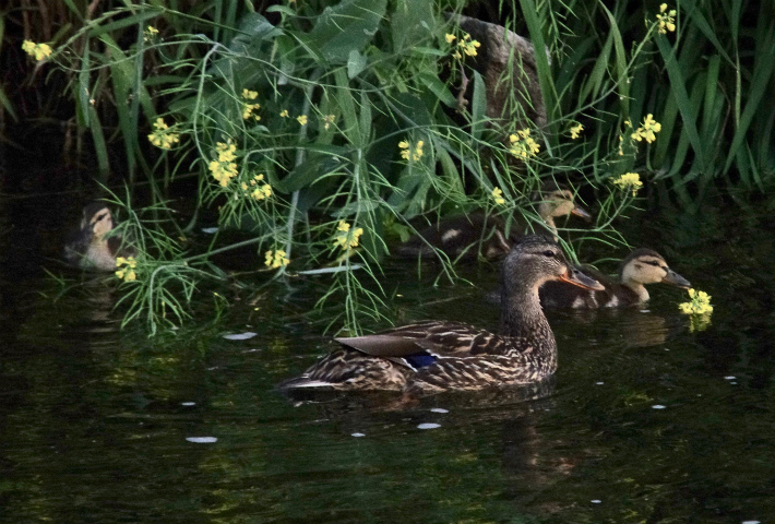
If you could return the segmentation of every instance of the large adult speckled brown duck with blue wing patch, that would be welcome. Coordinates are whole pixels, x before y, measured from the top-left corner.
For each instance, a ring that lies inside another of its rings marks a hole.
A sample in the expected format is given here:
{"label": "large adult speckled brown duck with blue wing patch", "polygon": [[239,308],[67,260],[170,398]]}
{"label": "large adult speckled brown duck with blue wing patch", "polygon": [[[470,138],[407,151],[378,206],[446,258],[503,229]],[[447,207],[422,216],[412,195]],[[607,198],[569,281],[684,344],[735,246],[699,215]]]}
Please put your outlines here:
{"label": "large adult speckled brown duck with blue wing patch", "polygon": [[559,246],[530,235],[503,262],[501,333],[457,322],[427,321],[385,332],[336,338],[342,347],[284,389],[393,390],[428,394],[541,380],[557,369],[557,343],[538,288],[562,281],[603,286],[574,270]]}

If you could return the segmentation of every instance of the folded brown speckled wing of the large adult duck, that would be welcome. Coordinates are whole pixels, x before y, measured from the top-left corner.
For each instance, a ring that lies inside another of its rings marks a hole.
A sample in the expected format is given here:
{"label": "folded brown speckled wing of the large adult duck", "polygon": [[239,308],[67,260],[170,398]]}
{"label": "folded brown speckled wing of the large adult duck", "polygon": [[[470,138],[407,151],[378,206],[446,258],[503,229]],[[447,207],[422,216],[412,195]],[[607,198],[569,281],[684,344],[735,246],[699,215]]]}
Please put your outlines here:
{"label": "folded brown speckled wing of the large adult duck", "polygon": [[404,358],[428,353],[439,358],[502,355],[503,337],[458,322],[418,322],[375,335],[336,338],[372,357]]}

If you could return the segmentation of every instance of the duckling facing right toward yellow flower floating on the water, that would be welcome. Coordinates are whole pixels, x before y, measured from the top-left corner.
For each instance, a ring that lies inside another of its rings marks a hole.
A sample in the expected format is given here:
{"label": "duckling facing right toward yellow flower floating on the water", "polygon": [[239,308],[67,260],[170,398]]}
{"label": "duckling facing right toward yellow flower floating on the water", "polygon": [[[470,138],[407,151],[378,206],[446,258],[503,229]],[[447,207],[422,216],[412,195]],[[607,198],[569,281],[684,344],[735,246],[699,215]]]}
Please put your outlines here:
{"label": "duckling facing right toward yellow flower floating on the water", "polygon": [[612,279],[591,267],[582,271],[600,282],[604,290],[576,290],[547,283],[540,289],[544,307],[550,308],[624,308],[648,300],[645,284],[665,283],[689,289],[691,284],[672,271],[665,258],[651,249],[636,249],[619,265],[619,278]]}

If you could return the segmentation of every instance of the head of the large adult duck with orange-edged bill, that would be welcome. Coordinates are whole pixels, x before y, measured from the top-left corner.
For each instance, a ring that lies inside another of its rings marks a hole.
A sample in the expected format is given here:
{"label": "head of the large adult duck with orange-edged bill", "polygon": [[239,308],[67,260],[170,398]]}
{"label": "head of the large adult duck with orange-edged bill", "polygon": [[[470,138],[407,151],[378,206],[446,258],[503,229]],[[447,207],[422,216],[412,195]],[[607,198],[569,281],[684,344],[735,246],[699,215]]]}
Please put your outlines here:
{"label": "head of the large adult duck with orange-edged bill", "polygon": [[535,291],[537,297],[538,288],[549,281],[567,282],[596,291],[605,289],[599,282],[571,265],[557,242],[542,235],[525,236],[503,262],[504,293],[514,296],[528,290]]}

